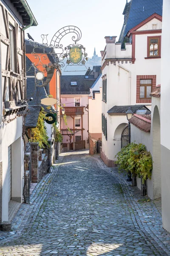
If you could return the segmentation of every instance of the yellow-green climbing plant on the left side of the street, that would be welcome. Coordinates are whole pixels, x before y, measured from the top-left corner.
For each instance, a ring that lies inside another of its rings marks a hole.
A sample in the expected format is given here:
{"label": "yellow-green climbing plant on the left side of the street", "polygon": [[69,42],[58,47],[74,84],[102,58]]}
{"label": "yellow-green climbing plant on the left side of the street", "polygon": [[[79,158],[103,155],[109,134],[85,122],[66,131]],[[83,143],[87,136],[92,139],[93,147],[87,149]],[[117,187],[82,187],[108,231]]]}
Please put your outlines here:
{"label": "yellow-green climbing plant on the left side of the street", "polygon": [[31,128],[31,142],[38,142],[40,148],[44,148],[45,146],[49,146],[48,143],[48,135],[45,129],[44,119],[45,112],[42,108],[38,117],[36,128]]}

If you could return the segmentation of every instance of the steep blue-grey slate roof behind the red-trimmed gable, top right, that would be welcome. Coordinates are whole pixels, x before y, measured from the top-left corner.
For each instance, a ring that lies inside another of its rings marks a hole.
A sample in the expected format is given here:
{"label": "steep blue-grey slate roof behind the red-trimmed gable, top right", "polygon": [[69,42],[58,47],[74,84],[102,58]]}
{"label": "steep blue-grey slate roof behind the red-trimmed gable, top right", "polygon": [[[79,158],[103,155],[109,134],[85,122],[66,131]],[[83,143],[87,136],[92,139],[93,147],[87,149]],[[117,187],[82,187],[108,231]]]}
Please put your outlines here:
{"label": "steep blue-grey slate roof behind the red-trimmed gable, top right", "polygon": [[148,17],[157,13],[162,16],[162,5],[163,0],[130,0],[126,3],[123,12],[124,23],[122,26],[122,31],[119,37],[119,42],[124,41],[124,37],[127,32],[146,20]]}

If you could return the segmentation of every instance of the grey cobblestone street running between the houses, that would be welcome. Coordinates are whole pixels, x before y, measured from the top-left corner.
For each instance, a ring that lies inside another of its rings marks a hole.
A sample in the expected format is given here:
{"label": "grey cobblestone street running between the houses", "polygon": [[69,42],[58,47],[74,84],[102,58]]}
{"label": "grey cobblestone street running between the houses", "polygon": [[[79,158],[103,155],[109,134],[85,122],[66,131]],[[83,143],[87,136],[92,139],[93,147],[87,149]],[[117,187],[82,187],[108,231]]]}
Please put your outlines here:
{"label": "grey cobblestone street running between the houses", "polygon": [[153,201],[88,151],[62,154],[4,234],[2,256],[170,256]]}

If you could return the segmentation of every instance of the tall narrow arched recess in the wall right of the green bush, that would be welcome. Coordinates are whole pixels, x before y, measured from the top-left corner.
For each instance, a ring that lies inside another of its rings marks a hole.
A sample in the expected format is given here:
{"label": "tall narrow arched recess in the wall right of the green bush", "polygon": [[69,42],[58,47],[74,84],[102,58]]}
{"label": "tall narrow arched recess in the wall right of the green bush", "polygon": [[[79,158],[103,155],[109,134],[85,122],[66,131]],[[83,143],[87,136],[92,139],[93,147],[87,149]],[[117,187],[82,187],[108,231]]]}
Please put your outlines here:
{"label": "tall narrow arched recess in the wall right of the green bush", "polygon": [[161,139],[160,116],[157,105],[153,111],[153,198],[161,197]]}

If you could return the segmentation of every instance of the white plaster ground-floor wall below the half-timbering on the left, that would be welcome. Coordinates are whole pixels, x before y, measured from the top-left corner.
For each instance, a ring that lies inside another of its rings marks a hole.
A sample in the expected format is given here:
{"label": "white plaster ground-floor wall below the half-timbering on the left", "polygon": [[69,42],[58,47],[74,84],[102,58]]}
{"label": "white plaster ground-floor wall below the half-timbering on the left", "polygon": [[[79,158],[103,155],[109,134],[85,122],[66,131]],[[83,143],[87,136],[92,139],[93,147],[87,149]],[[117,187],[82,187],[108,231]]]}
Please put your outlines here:
{"label": "white plaster ground-floor wall below the half-timbering on the left", "polygon": [[[24,172],[23,157],[24,146],[22,137],[22,117],[14,119],[12,122],[2,124],[2,161],[3,161],[3,198],[2,198],[2,221],[8,221],[8,146],[17,141],[12,146],[12,173],[18,178],[18,187],[12,191],[15,196],[22,198],[22,177]],[[20,138],[20,139],[19,139]],[[17,155],[16,155],[17,153]],[[14,167],[14,168],[13,168]]]}

